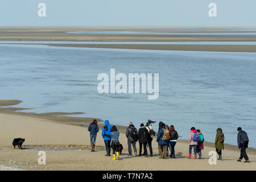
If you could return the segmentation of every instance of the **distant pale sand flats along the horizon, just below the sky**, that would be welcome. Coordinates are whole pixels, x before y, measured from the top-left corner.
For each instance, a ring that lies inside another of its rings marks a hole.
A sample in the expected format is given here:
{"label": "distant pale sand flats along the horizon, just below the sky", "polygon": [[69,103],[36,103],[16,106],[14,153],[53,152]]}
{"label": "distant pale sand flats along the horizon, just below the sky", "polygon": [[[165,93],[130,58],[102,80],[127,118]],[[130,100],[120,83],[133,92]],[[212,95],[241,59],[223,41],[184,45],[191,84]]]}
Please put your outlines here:
{"label": "distant pale sand flats along the horizon, just below the sky", "polygon": [[189,42],[189,41],[256,41],[255,35],[123,35],[123,34],[69,34],[72,31],[167,31],[201,32],[233,31],[236,28],[255,27],[0,27],[0,40],[26,41],[104,41],[104,42]]}

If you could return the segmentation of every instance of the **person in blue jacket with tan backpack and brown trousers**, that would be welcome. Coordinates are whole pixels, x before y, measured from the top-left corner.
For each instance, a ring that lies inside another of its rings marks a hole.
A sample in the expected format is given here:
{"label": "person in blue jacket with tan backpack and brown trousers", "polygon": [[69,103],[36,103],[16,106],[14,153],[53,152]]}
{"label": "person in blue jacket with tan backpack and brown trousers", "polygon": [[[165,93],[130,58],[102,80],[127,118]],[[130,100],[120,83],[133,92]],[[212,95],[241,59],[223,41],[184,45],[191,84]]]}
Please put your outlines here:
{"label": "person in blue jacket with tan backpack and brown trousers", "polygon": [[156,139],[156,142],[158,142],[160,159],[167,158],[168,140],[170,140],[170,133],[168,130],[166,131],[166,125],[163,122],[159,122],[158,138]]}

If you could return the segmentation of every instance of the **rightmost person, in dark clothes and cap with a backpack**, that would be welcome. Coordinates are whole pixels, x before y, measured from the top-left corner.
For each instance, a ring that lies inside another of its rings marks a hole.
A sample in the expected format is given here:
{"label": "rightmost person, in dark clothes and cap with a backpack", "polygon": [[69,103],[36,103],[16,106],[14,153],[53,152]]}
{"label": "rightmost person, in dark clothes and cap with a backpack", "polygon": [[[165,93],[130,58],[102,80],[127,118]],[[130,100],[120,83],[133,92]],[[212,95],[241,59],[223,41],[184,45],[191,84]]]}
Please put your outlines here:
{"label": "rightmost person, in dark clothes and cap with a backpack", "polygon": [[241,127],[238,127],[237,131],[237,144],[238,148],[240,148],[240,158],[237,161],[242,162],[242,159],[245,158],[245,163],[249,163],[249,158],[246,154],[246,148],[248,148],[249,138],[247,136],[247,133],[243,131]]}

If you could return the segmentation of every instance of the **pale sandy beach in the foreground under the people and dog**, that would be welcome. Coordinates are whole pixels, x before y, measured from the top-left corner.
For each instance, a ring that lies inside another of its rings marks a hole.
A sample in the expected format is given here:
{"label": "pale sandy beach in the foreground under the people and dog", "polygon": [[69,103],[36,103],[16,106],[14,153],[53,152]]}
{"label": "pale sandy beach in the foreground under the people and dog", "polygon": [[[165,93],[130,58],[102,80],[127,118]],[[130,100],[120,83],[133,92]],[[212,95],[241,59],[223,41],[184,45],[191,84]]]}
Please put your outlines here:
{"label": "pale sandy beach in the foreground under the people and dog", "polygon": [[[19,101],[1,101],[1,106],[15,105]],[[13,104],[10,104],[13,103]],[[205,142],[203,159],[187,159],[188,142],[178,140],[176,159],[159,159],[157,142],[153,140],[154,156],[150,158],[127,156],[127,139],[121,130],[119,137],[124,150],[121,160],[105,157],[101,130],[97,135],[96,150],[90,151],[89,132],[86,126],[72,125],[72,122],[55,121],[19,112],[10,113],[8,107],[1,107],[0,113],[0,168],[24,170],[255,170],[256,152],[249,148],[251,163],[238,163],[237,146],[225,145],[223,160],[216,165],[208,163],[209,151],[214,144]],[[6,108],[6,109],[3,109]],[[45,114],[47,115],[47,114]],[[56,116],[55,116],[56,117]],[[88,123],[92,118],[88,118]],[[78,121],[77,121],[78,122]],[[118,127],[119,128],[119,127]],[[101,129],[101,127],[100,127]],[[23,150],[13,149],[14,138],[25,138]],[[139,145],[137,143],[137,150]],[[46,152],[46,165],[38,164],[38,152]]]}

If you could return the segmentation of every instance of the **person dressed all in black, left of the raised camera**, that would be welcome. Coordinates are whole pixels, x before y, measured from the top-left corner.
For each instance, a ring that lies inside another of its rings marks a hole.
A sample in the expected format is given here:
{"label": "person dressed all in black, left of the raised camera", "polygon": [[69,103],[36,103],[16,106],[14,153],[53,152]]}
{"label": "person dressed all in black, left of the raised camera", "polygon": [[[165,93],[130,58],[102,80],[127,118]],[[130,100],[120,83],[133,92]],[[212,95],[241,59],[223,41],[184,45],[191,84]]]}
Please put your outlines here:
{"label": "person dressed all in black, left of the raised camera", "polygon": [[142,145],[143,145],[143,150],[144,150],[143,154],[146,155],[146,158],[148,157],[147,156],[147,134],[148,134],[148,131],[146,127],[144,127],[144,124],[141,123],[141,128],[139,129],[139,132],[138,132],[138,138],[139,138],[139,155],[138,156],[141,156]]}

